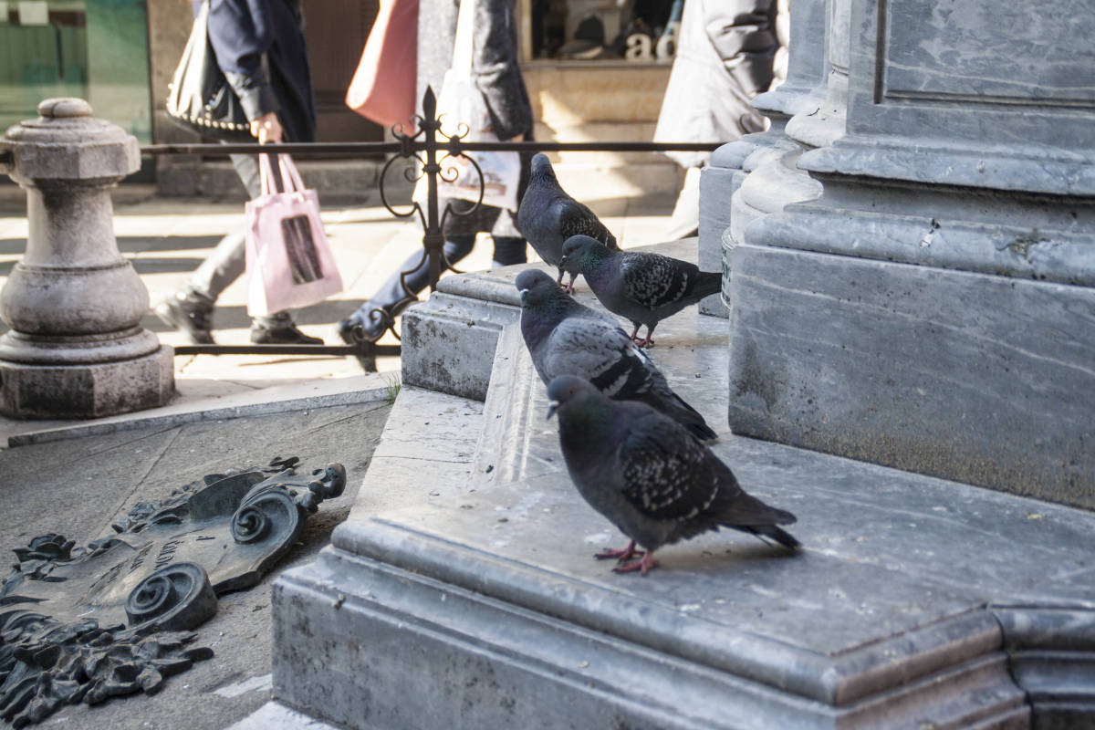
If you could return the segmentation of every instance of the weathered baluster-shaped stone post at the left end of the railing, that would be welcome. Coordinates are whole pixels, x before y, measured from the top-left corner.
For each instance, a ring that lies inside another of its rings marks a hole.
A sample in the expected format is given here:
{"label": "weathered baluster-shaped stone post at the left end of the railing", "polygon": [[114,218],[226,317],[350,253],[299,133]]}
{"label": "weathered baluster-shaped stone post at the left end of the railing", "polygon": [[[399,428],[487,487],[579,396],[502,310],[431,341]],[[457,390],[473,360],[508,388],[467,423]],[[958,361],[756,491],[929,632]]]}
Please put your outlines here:
{"label": "weathered baluster-shaped stone post at the left end of the railing", "polygon": [[110,190],[140,166],[137,140],[50,99],[0,142],[26,190],[26,252],[0,292],[0,412],[96,418],[164,405],[173,351],[141,328],[148,290],[118,252]]}

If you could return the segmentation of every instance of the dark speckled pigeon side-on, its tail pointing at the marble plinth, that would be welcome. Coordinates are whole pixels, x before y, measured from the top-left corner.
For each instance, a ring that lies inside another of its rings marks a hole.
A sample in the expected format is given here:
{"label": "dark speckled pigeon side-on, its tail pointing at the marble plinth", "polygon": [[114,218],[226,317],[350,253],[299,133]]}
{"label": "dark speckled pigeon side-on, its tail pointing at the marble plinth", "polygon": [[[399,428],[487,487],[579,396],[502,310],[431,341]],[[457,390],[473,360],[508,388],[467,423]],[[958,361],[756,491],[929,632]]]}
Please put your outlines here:
{"label": "dark speckled pigeon side-on, its tail pointing at the marble plinth", "polygon": [[[654,328],[689,304],[714,294],[723,275],[701,271],[695,264],[659,254],[611,251],[588,235],[573,235],[563,244],[560,268],[576,266],[609,312],[635,325],[632,339],[639,347],[654,345]],[[646,325],[646,337],[638,328]]]}

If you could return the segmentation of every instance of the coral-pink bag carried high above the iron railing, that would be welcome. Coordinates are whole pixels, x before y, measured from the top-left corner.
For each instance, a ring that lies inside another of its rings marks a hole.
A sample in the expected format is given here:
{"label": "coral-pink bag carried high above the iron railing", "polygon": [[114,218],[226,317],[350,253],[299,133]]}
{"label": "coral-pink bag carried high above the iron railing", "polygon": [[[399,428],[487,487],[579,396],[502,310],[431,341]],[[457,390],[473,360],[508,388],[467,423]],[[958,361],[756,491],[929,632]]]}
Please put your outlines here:
{"label": "coral-pink bag carried high above the iron railing", "polygon": [[361,60],[346,90],[346,106],[385,127],[414,134],[418,0],[381,0]]}

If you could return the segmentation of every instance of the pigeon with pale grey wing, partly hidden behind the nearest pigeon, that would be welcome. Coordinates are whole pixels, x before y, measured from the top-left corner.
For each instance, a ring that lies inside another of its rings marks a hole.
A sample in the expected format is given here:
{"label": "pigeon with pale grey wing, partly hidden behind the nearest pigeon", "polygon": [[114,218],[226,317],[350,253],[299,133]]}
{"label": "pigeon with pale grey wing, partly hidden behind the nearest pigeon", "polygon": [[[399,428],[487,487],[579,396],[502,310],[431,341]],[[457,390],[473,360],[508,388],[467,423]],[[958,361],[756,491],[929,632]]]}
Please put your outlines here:
{"label": "pigeon with pale grey wing, partly hidden behind the nearest pigeon", "polygon": [[609,397],[641,401],[660,410],[696,439],[717,438],[608,315],[574,301],[538,269],[521,271],[517,289],[521,292],[521,336],[544,384],[556,375],[579,375]]}

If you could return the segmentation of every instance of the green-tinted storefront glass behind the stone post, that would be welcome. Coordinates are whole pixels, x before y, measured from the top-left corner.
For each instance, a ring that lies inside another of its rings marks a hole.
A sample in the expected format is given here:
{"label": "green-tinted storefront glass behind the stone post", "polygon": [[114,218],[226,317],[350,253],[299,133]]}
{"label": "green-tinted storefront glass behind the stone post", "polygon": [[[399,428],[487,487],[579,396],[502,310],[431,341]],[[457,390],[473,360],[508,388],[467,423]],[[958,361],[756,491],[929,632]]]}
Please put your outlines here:
{"label": "green-tinted storefront glass behind the stone post", "polygon": [[79,96],[151,141],[146,0],[0,0],[0,130]]}

